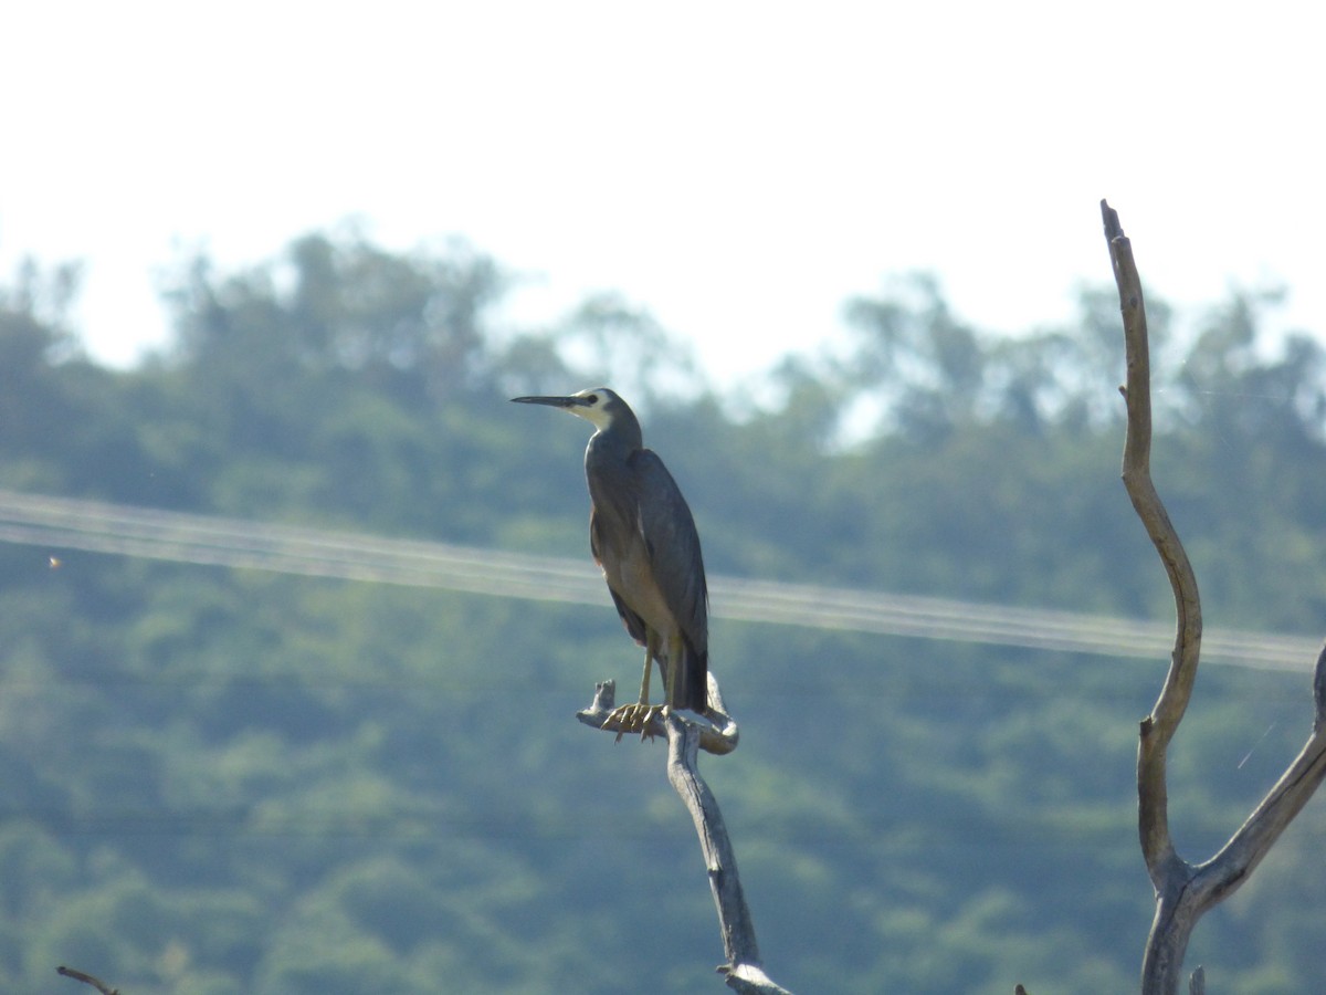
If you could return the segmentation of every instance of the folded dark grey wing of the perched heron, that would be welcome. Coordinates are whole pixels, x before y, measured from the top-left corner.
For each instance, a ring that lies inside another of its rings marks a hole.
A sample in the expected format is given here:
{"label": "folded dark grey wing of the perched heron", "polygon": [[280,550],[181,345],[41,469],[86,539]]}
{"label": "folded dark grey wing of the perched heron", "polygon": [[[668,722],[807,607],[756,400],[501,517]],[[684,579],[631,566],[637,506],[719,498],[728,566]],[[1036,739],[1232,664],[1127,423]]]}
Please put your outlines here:
{"label": "folded dark grey wing of the perched heron", "polygon": [[636,450],[630,462],[633,478],[639,484],[638,523],[654,568],[654,582],[687,642],[701,657],[707,655],[709,592],[691,508],[652,450]]}

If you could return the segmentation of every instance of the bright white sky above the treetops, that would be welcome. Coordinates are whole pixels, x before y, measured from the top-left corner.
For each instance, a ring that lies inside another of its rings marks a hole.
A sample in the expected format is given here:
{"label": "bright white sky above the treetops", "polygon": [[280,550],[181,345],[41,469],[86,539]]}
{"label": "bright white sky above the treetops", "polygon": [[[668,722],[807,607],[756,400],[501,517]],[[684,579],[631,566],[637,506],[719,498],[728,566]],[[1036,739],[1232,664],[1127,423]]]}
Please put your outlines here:
{"label": "bright white sky above the treetops", "polygon": [[[1326,60],[1303,3],[12,4],[0,276],[81,259],[129,362],[154,273],[358,216],[537,275],[522,317],[621,291],[721,385],[939,273],[1018,332],[1106,283],[1098,202],[1180,305],[1286,284],[1326,333]],[[575,385],[572,385],[575,386]]]}

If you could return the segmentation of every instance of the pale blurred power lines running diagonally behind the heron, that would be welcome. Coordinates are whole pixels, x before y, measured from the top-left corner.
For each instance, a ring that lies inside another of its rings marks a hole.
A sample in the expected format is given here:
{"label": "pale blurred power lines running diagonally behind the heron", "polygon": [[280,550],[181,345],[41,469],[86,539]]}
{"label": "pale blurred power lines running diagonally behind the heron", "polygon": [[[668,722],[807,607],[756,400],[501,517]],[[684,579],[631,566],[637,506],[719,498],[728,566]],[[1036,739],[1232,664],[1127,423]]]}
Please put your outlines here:
{"label": "pale blurred power lines running diagonally behind the heron", "polygon": [[[601,605],[606,597],[587,560],[4,490],[0,541],[536,601]],[[853,588],[713,576],[709,594],[713,617],[744,622],[1107,657],[1163,658],[1174,642],[1174,628],[1164,622]],[[1205,659],[1265,670],[1306,673],[1319,647],[1311,637],[1248,630],[1213,629],[1203,637]]]}

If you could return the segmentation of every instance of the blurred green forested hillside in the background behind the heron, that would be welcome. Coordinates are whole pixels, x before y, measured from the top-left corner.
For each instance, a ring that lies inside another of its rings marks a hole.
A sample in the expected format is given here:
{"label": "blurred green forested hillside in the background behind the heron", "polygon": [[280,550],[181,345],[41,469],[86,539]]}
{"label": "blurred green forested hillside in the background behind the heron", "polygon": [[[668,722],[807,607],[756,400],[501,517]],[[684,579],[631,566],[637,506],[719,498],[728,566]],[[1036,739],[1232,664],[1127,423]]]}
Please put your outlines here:
{"label": "blurred green forested hillside in the background behind the heron", "polygon": [[[508,398],[607,382],[711,573],[1172,617],[1118,480],[1105,283],[1071,326],[1000,337],[898,279],[846,304],[850,342],[749,395],[614,295],[512,328],[511,287],[465,244],[398,255],[353,231],[243,272],[198,257],[166,293],[171,346],[118,371],[69,326],[77,269],[27,265],[0,289],[0,487],[587,559],[586,427]],[[1180,336],[1150,301],[1156,480],[1211,625],[1317,634],[1326,352],[1265,341],[1274,305],[1232,293]],[[606,590],[591,608],[5,544],[0,631],[3,991],[70,990],[62,963],[126,995],[719,990],[663,747],[573,718],[639,673]],[[704,771],[780,983],[1135,988],[1136,723],[1164,659],[721,621],[711,651],[743,743]],[[1171,751],[1185,856],[1297,752],[1310,665],[1203,670]],[[1203,919],[1189,961],[1219,990],[1319,987],[1323,834],[1314,803]]]}

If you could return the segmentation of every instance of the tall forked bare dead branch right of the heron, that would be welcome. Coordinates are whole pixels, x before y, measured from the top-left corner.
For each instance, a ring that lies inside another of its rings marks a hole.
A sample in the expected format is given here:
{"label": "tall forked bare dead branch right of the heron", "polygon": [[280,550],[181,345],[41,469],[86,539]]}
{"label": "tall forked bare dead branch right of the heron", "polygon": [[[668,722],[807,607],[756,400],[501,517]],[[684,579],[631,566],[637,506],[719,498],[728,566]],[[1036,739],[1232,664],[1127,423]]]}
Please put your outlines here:
{"label": "tall forked bare dead branch right of the heron", "polygon": [[[1197,677],[1201,601],[1192,564],[1151,480],[1151,361],[1142,280],[1119,215],[1105,200],[1101,215],[1119,288],[1127,357],[1127,382],[1122,387],[1127,403],[1123,486],[1170,577],[1177,617],[1170,670],[1151,714],[1142,720],[1138,744],[1138,833],[1156,897],[1142,961],[1142,992],[1176,995],[1184,953],[1197,919],[1248,880],[1326,777],[1326,649],[1317,658],[1315,718],[1302,752],[1215,857],[1204,864],[1189,864],[1175,852],[1170,836],[1166,751],[1183,720]],[[1200,990],[1204,976],[1195,976],[1192,982]]]}

